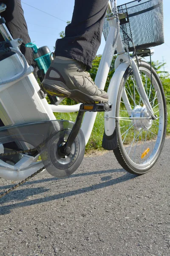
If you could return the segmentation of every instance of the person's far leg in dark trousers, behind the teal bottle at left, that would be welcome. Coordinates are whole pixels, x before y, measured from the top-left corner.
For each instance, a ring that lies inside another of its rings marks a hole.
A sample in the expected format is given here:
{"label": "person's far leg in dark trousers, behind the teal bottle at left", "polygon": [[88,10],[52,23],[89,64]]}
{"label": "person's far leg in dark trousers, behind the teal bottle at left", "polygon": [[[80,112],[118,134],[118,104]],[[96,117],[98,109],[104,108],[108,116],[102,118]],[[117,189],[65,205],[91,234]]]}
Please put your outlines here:
{"label": "person's far leg in dark trousers, behind the teal bottle at left", "polygon": [[[14,39],[22,38],[23,43],[20,46],[20,51],[25,56],[29,65],[35,68],[35,62],[32,56],[32,49],[25,47],[25,44],[31,42],[28,35],[28,28],[24,18],[24,12],[21,6],[21,0],[0,0],[0,4],[6,4],[6,10],[1,14],[6,20],[6,26]],[[4,41],[0,34],[0,41]]]}

